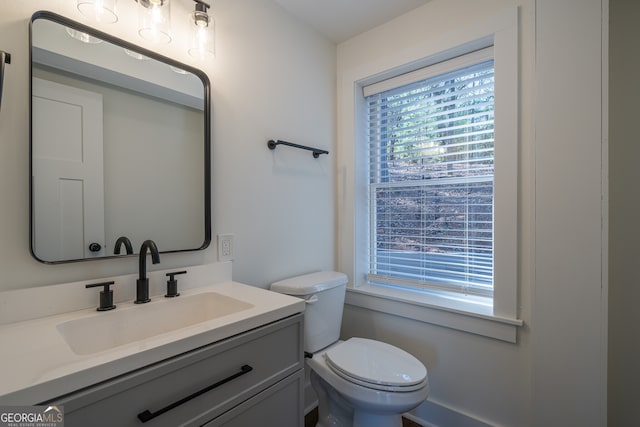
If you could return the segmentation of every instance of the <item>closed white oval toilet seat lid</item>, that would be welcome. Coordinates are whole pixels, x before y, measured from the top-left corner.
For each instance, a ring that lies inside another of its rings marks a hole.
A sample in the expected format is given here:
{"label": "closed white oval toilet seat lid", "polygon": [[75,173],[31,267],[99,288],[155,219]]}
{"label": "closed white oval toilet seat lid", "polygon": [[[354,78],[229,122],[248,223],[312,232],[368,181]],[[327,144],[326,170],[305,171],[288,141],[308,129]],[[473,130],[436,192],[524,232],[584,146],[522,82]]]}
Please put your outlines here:
{"label": "closed white oval toilet seat lid", "polygon": [[414,391],[427,381],[427,370],[418,359],[380,341],[350,338],[327,350],[324,358],[340,377],[375,390]]}

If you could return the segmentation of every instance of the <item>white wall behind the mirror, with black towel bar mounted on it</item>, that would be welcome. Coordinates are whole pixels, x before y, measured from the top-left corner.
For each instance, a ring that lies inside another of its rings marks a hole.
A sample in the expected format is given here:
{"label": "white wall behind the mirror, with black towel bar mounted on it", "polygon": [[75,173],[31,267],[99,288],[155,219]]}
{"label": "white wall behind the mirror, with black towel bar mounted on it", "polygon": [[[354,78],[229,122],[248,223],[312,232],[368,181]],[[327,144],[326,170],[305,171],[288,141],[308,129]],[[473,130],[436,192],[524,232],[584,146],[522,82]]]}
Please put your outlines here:
{"label": "white wall behind the mirror, with black towel bar mounted on it", "polygon": [[[213,234],[209,249],[162,256],[155,268],[216,260],[215,235],[235,234],[234,279],[257,286],[334,264],[335,46],[271,0],[216,0],[217,57],[192,60],[180,36],[192,2],[174,2],[174,42],[136,34],[134,2],[94,24],[68,0],[4,1],[0,49],[12,54],[0,110],[0,291],[137,271],[137,259],[44,265],[29,253],[29,19],[50,10],[207,72],[212,84]],[[266,147],[270,138],[317,145]],[[129,206],[130,209],[144,207]],[[152,217],[152,216],[151,216]],[[133,285],[132,285],[133,286]],[[78,290],[82,292],[82,290]]]}

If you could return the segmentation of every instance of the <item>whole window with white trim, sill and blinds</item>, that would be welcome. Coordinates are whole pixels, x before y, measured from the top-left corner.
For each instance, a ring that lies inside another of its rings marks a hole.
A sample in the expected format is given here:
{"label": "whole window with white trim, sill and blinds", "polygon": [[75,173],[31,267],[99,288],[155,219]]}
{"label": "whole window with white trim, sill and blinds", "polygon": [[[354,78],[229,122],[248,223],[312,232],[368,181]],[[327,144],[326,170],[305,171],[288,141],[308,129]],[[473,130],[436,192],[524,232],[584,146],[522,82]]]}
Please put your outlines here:
{"label": "whole window with white trim, sill and blinds", "polygon": [[345,302],[515,342],[529,232],[518,205],[534,194],[527,164],[518,169],[518,10],[423,36],[341,52]]}

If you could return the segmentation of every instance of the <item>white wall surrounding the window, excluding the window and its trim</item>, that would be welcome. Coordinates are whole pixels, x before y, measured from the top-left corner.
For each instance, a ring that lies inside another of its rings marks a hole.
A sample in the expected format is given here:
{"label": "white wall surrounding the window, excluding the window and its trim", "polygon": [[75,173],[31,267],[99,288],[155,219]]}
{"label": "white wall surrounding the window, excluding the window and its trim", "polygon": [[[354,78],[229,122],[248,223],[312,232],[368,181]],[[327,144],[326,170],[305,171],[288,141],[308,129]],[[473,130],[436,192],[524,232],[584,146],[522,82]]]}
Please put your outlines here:
{"label": "white wall surrounding the window, excluding the window and its trim", "polygon": [[354,78],[418,61],[417,52],[455,46],[514,7],[520,44],[518,317],[525,322],[517,343],[349,305],[343,337],[387,341],[425,363],[431,393],[414,413],[422,421],[604,425],[600,0],[432,0],[338,46],[338,268],[349,270],[358,256],[349,202],[357,195],[355,128],[352,104],[345,102],[353,97]]}

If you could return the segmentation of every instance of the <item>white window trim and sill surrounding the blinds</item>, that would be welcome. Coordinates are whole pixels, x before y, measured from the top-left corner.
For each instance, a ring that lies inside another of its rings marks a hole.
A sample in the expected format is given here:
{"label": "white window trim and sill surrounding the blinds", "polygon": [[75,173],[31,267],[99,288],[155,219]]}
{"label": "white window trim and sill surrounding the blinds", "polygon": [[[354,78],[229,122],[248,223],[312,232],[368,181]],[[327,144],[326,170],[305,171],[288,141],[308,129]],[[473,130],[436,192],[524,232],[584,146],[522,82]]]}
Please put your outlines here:
{"label": "white window trim and sill surrounding the blinds", "polygon": [[[353,253],[340,255],[351,281],[346,304],[394,314],[414,320],[516,342],[518,318],[518,19],[517,8],[493,22],[484,36],[468,39],[445,49],[366,77],[347,76],[353,96],[353,223],[340,217],[341,231],[353,231]],[[499,24],[499,25],[496,25]],[[458,39],[459,40],[459,39]],[[448,292],[415,291],[368,283],[368,167],[366,124],[358,119],[366,111],[362,88],[394,75],[493,46],[495,66],[495,188],[494,188],[494,295],[491,300]],[[361,71],[361,70],[357,70]],[[356,72],[357,72],[356,71]],[[349,77],[353,77],[351,80]],[[345,95],[346,96],[346,95]],[[349,126],[346,126],[349,129]],[[348,157],[348,156],[347,156]],[[349,212],[349,205],[346,206]],[[343,210],[343,212],[345,212]],[[367,221],[359,219],[367,218]],[[366,223],[366,224],[363,224]],[[349,245],[345,249],[348,249]]]}

